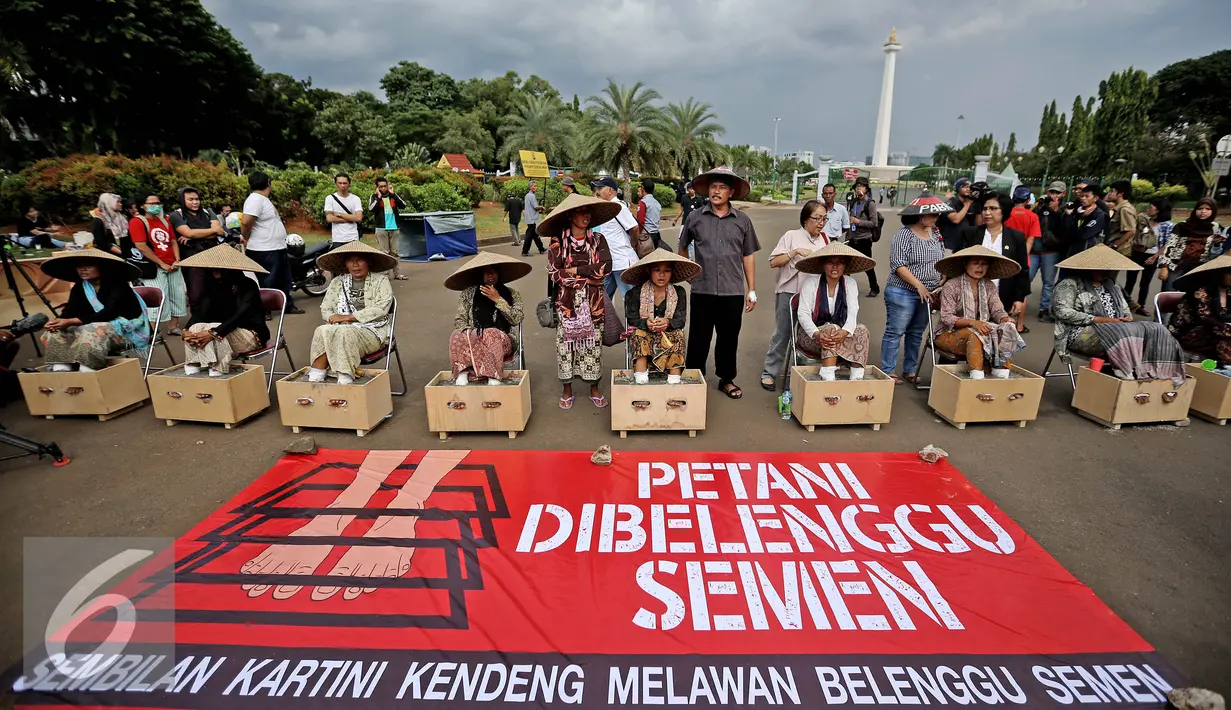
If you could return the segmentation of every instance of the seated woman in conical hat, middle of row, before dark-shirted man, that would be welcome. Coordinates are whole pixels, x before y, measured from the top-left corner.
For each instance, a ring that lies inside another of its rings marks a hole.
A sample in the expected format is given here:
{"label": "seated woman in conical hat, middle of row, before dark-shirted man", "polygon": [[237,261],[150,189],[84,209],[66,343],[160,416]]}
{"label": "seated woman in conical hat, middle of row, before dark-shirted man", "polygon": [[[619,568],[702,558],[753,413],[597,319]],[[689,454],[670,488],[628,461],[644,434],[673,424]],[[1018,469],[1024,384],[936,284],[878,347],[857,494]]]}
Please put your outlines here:
{"label": "seated woman in conical hat, middle of row, before dark-shirted man", "polygon": [[676,284],[692,281],[698,273],[700,267],[696,262],[656,249],[620,274],[633,287],[624,294],[624,319],[635,329],[628,338],[635,384],[649,384],[650,368],[666,373],[667,384],[680,384],[684,372],[688,297]]}

